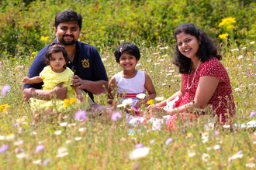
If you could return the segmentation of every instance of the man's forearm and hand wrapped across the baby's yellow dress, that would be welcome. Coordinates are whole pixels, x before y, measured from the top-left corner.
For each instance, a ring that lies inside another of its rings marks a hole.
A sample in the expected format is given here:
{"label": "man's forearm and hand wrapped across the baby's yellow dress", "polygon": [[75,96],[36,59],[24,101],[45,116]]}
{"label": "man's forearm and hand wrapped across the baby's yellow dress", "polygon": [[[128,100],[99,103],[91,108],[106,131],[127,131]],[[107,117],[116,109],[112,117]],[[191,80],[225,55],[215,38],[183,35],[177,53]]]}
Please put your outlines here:
{"label": "man's forearm and hand wrapped across the baby's yellow dress", "polygon": [[63,83],[57,84],[53,90],[40,90],[36,88],[26,88],[23,90],[23,100],[28,101],[31,97],[36,97],[41,100],[51,100],[54,96],[57,99],[64,100],[67,95],[67,88],[61,88]]}

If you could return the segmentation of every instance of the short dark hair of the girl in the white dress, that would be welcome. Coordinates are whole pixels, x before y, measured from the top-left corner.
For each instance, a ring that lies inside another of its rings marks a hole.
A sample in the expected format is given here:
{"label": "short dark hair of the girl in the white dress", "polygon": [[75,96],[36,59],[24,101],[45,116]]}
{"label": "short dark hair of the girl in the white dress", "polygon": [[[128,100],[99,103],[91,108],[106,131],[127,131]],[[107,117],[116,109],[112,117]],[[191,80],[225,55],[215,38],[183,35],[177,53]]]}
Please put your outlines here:
{"label": "short dark hair of the girl in the white dress", "polygon": [[123,42],[120,46],[117,47],[115,51],[116,62],[119,63],[120,56],[122,53],[128,53],[135,56],[136,59],[140,59],[140,49],[135,43],[132,42]]}

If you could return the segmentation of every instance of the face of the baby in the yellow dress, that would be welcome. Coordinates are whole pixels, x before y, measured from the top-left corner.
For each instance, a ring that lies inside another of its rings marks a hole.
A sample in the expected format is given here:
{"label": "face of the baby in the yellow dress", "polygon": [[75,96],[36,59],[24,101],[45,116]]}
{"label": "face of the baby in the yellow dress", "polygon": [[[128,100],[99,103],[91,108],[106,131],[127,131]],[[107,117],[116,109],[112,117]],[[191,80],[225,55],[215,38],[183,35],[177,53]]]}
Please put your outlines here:
{"label": "face of the baby in the yellow dress", "polygon": [[66,60],[64,59],[63,53],[52,53],[50,59],[50,66],[53,68],[53,71],[56,73],[61,73],[64,71],[64,65]]}

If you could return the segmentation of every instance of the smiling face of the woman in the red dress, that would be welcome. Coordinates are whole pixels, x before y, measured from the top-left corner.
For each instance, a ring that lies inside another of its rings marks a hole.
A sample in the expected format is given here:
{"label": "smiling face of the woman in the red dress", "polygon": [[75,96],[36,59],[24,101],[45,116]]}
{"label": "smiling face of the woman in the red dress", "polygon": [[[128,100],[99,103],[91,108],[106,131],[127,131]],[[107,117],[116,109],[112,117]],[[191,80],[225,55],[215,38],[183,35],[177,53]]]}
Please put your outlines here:
{"label": "smiling face of the woman in the red dress", "polygon": [[199,50],[199,41],[201,42],[202,36],[199,36],[199,41],[195,36],[182,32],[176,36],[178,50],[189,59],[195,59],[197,51]]}

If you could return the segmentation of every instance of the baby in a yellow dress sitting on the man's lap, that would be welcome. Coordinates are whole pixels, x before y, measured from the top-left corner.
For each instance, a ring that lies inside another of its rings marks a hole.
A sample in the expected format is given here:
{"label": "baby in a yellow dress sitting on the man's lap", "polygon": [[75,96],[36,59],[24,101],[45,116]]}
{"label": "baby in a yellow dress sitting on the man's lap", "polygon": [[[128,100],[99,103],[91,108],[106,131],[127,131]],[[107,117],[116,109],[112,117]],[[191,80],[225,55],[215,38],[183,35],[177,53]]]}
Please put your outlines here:
{"label": "baby in a yellow dress sitting on the man's lap", "polygon": [[[33,78],[24,77],[22,83],[41,83],[43,81],[43,90],[53,90],[58,83],[64,82],[62,87],[67,87],[67,99],[77,97],[78,100],[83,102],[88,108],[92,104],[90,97],[86,96],[86,93],[80,88],[71,87],[71,80],[74,73],[68,67],[66,63],[68,61],[67,50],[64,46],[58,43],[51,44],[47,50],[44,62],[47,64],[40,76],[34,76]],[[83,92],[83,93],[82,93]],[[39,100],[31,98],[29,104],[32,110],[43,108],[45,110],[62,112],[66,110],[63,100]]]}

